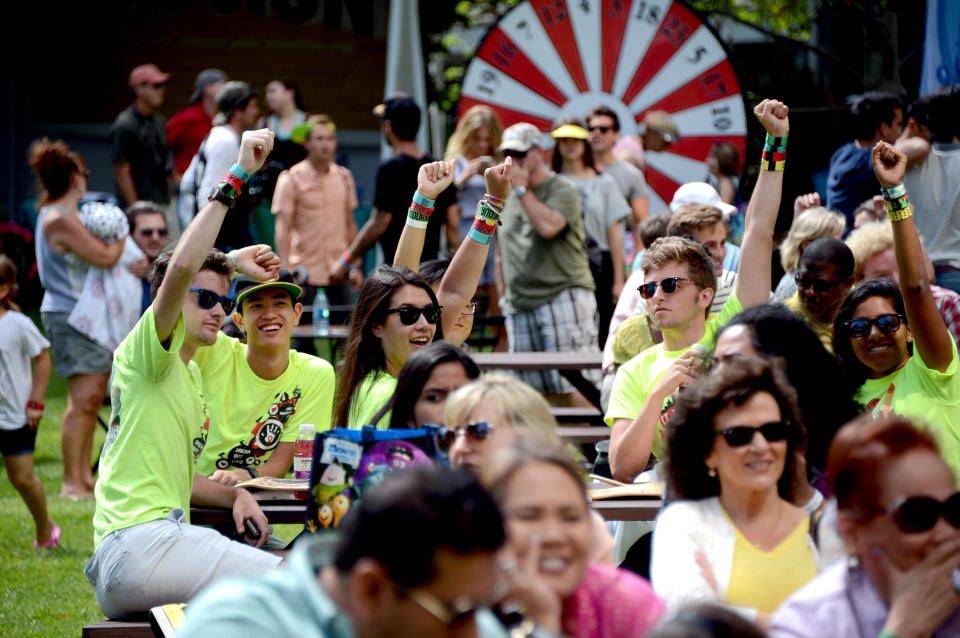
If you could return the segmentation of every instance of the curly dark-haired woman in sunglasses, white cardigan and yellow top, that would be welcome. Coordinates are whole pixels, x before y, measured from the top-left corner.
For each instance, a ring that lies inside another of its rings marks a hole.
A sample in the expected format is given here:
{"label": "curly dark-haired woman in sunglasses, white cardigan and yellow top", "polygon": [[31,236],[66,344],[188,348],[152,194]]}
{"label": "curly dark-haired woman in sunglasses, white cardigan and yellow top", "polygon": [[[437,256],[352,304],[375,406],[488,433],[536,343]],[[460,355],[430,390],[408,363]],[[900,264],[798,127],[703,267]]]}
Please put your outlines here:
{"label": "curly dark-haired woman in sunglasses, white cardigan and yellow top", "polygon": [[810,516],[793,505],[805,430],[796,392],[775,364],[723,363],[680,396],[667,434],[667,488],[650,575],[675,611],[719,602],[769,624],[813,579]]}

